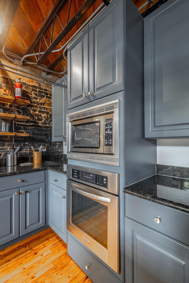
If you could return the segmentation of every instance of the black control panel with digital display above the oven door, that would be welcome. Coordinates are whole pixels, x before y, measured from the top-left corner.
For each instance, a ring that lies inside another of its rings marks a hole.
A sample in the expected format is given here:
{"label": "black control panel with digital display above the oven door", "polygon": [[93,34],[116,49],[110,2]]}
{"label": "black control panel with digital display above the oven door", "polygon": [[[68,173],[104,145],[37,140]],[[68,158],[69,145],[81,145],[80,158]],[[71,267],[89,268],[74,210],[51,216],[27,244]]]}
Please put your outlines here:
{"label": "black control panel with digital display above the oven door", "polygon": [[107,189],[107,176],[97,175],[72,168],[71,177]]}

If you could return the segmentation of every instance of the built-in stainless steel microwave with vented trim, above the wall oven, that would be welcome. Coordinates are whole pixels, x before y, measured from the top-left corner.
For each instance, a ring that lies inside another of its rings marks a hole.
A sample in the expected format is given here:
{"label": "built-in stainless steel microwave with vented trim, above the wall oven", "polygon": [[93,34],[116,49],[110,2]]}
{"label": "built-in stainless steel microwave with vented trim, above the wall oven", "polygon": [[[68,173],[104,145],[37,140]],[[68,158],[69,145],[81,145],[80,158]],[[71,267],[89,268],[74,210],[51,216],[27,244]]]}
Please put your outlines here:
{"label": "built-in stainless steel microwave with vented trim, above the wall oven", "polygon": [[107,156],[118,158],[118,100],[68,114],[67,123],[68,158],[106,164],[112,164]]}

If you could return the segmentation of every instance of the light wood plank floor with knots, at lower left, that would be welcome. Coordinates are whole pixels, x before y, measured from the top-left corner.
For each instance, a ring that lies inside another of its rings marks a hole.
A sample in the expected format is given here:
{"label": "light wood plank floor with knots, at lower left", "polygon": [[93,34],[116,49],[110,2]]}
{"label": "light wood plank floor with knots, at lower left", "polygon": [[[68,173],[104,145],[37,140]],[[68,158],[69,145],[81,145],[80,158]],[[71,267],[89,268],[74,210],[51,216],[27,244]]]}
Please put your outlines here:
{"label": "light wood plank floor with knots, at lower left", "polygon": [[0,251],[0,283],[92,283],[47,228]]}

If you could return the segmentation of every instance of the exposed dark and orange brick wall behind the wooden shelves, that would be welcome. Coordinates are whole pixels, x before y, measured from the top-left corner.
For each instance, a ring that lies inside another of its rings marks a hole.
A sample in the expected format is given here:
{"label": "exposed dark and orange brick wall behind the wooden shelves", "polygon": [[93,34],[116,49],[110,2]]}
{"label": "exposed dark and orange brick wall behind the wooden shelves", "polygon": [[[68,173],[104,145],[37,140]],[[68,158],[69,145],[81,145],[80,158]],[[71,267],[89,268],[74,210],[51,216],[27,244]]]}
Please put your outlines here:
{"label": "exposed dark and orange brick wall behind the wooden shelves", "polygon": [[[0,58],[1,60],[1,58]],[[10,63],[10,65],[13,65]],[[27,71],[32,73],[32,68],[27,68]],[[43,72],[38,72],[41,76]],[[24,75],[16,75],[12,72],[7,72],[0,68],[0,93],[12,96],[12,87],[14,88],[17,78],[21,78],[22,82],[22,98],[30,100],[28,106],[15,105],[14,113],[24,116],[30,116],[30,120],[26,122],[15,121],[15,131],[30,134],[28,137],[15,137],[14,147],[22,144],[23,149],[30,149],[31,145],[38,148],[40,145],[47,147],[45,155],[63,154],[63,143],[52,142],[52,106],[51,106],[51,85],[37,82],[35,80],[26,78]],[[48,77],[51,80],[58,80],[57,77]],[[14,89],[15,90],[15,89]],[[13,113],[13,105],[9,103],[1,103],[0,108],[3,108],[4,113]],[[9,132],[12,131],[13,122],[10,122]],[[2,150],[9,150],[12,148],[12,136],[0,136],[0,158],[5,157],[5,152]],[[32,152],[20,152],[18,157],[31,157]]]}

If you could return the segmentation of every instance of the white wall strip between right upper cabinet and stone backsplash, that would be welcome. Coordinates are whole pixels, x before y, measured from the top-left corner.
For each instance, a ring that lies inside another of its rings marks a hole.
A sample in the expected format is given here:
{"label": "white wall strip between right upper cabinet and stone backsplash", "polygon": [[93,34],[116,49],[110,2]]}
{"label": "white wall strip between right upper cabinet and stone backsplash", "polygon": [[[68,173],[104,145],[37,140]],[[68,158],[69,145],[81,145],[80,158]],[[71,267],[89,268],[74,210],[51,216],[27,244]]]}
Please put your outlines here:
{"label": "white wall strip between right upper cabinet and stone backsplash", "polygon": [[189,139],[157,140],[157,164],[189,167]]}

